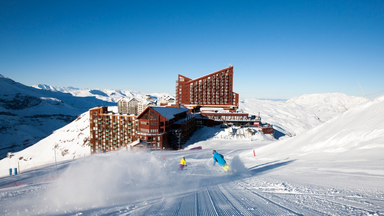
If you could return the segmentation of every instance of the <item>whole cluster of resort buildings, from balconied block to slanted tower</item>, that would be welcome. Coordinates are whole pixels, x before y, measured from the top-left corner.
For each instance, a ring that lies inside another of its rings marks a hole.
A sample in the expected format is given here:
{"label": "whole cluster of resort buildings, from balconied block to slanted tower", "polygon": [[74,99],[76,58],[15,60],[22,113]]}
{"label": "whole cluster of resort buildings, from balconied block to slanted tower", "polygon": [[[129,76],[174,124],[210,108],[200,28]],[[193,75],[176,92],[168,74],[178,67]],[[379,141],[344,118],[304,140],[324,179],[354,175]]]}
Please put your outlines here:
{"label": "whole cluster of resort buildings, from balconied block to slanted tower", "polygon": [[91,153],[121,148],[179,149],[196,126],[258,127],[262,133],[273,134],[272,125],[262,123],[260,116],[249,116],[238,108],[238,94],[233,92],[233,66],[194,80],[179,75],[176,100],[163,96],[160,106],[156,100],[150,95],[140,102],[121,98],[118,113],[108,111],[108,106],[90,109]]}

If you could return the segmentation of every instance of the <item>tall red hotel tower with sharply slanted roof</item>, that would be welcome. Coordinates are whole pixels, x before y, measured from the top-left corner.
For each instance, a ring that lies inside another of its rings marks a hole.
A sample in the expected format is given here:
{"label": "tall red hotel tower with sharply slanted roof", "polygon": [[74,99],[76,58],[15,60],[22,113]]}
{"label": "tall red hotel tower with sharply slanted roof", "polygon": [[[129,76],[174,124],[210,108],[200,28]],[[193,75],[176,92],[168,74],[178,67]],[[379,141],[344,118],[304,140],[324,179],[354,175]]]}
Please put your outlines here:
{"label": "tall red hotel tower with sharply slanted roof", "polygon": [[233,92],[233,66],[196,79],[179,74],[176,104],[238,107],[238,94]]}

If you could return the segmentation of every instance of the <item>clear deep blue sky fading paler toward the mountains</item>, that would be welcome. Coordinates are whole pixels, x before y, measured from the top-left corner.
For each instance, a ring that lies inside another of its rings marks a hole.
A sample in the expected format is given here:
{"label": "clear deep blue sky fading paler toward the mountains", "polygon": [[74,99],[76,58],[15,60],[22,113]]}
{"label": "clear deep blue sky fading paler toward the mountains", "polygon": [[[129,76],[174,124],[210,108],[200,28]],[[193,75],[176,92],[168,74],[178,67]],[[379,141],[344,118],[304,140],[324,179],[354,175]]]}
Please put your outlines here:
{"label": "clear deep blue sky fading paler toward the mountains", "polygon": [[[3,1],[0,74],[175,93],[234,66],[240,98],[384,90],[383,1]],[[370,95],[374,98],[381,93]]]}

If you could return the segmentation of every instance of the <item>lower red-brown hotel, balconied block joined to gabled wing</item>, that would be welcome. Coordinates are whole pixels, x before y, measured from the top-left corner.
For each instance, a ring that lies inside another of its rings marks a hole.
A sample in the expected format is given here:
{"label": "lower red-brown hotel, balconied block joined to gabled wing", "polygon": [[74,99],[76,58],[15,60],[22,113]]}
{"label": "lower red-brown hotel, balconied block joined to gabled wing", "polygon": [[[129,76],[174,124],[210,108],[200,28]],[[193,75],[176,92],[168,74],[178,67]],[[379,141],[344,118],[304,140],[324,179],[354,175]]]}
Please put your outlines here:
{"label": "lower red-brown hotel, balconied block joined to gabled wing", "polygon": [[114,113],[108,106],[89,110],[91,153],[144,148],[180,148],[193,133],[195,118],[184,106],[148,106],[139,115]]}

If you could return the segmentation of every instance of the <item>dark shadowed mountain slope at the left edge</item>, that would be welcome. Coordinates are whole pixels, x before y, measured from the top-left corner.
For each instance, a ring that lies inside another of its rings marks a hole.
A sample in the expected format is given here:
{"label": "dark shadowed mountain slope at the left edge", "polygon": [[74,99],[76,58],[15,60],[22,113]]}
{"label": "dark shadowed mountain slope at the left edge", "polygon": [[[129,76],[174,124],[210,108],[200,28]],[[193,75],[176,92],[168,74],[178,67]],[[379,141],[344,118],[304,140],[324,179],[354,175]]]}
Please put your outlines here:
{"label": "dark shadowed mountain slope at the left edge", "polygon": [[32,88],[0,75],[0,158],[37,143],[101,104],[116,106],[94,96]]}

